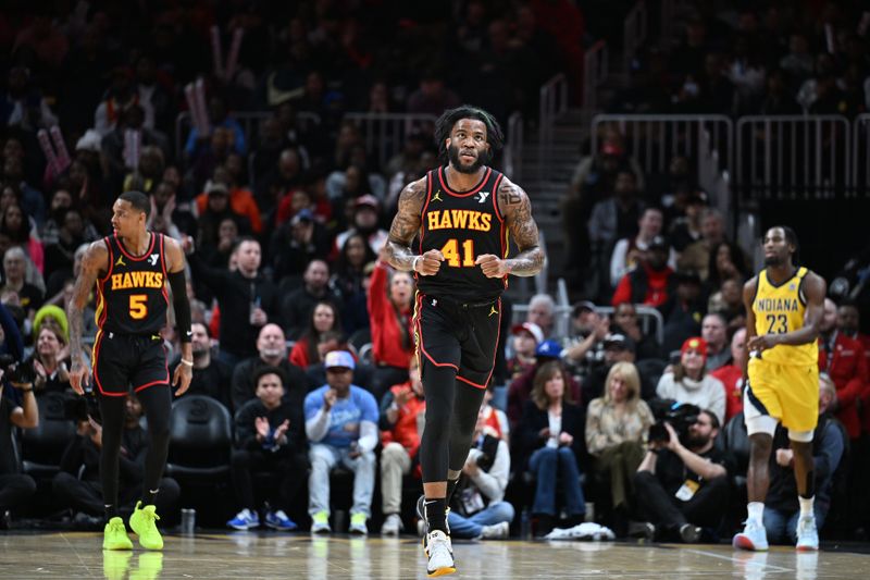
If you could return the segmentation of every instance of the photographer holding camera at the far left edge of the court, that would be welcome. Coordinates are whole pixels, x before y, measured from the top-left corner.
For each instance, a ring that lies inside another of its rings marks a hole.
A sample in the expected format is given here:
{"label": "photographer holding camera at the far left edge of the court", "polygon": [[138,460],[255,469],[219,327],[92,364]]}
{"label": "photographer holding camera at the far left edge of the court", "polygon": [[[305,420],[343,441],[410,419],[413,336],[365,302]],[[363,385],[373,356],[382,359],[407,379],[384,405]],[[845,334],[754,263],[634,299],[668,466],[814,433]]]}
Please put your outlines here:
{"label": "photographer holding camera at the far left edge of the court", "polygon": [[33,478],[18,473],[12,429],[39,424],[33,378],[23,377],[18,366],[8,365],[0,370],[0,529],[9,528],[10,508],[21,506],[36,492]]}

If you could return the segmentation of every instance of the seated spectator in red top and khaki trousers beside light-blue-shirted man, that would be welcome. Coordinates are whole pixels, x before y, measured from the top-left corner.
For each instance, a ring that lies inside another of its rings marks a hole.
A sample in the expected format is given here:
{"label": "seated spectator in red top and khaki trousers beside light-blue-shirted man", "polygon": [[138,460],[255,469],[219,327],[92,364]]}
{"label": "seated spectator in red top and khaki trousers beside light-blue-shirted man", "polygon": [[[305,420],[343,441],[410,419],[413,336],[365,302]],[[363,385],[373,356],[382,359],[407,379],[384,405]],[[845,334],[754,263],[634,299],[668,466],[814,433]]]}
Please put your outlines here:
{"label": "seated spectator in red top and khaki trousers beside light-blue-shirted man", "polygon": [[408,381],[394,385],[381,402],[381,494],[384,505],[384,526],[381,533],[398,535],[402,530],[401,478],[411,471],[420,448],[422,421],[425,417],[426,402],[423,398],[423,383],[420,380],[420,366],[411,356]]}

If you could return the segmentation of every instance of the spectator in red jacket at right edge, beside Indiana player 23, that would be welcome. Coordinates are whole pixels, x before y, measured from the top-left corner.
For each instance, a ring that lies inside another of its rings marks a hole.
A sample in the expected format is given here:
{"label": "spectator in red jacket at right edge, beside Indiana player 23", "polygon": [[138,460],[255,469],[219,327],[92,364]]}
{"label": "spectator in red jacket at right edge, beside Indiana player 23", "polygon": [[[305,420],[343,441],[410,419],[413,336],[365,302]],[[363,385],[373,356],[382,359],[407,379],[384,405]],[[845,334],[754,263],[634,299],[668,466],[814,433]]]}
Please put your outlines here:
{"label": "spectator in red jacket at right edge, beside Indiana player 23", "polygon": [[855,441],[861,434],[858,400],[868,384],[868,365],[861,343],[840,332],[836,322],[836,305],[825,298],[824,317],[819,325],[819,371],[826,372],[834,381],[835,416],[846,428],[849,440]]}

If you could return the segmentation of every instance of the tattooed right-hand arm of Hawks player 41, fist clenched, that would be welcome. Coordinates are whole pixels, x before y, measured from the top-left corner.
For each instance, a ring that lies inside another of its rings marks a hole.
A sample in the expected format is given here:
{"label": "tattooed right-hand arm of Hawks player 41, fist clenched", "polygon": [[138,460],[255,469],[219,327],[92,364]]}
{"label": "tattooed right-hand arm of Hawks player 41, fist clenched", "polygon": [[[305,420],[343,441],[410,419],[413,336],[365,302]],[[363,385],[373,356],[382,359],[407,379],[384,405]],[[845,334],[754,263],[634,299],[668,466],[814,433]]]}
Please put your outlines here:
{"label": "tattooed right-hand arm of Hawks player 41, fist clenched", "polygon": [[520,254],[508,259],[484,254],[477,257],[475,263],[481,264],[487,277],[537,274],[544,267],[544,250],[538,246],[537,224],[532,218],[532,203],[523,188],[507,177],[498,187],[498,210],[505,217]]}

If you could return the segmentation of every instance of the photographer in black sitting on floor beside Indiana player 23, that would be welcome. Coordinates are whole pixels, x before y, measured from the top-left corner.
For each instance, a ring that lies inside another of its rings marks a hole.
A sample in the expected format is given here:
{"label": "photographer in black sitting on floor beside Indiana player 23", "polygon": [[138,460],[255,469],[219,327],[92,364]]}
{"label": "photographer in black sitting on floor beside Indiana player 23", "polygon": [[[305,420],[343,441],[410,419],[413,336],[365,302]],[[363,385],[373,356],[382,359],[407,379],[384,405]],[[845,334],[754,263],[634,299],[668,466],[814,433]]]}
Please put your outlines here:
{"label": "photographer in black sitting on floor beside Indiana player 23", "polygon": [[648,522],[644,531],[650,539],[679,538],[691,544],[700,539],[701,528],[716,528],[725,514],[730,461],[713,445],[720,427],[716,414],[704,409],[670,417],[678,424],[661,423],[667,439],[650,430],[646,456],[634,476],[634,503]]}

